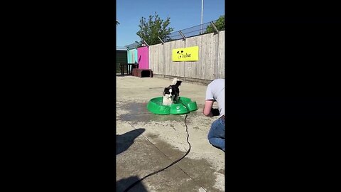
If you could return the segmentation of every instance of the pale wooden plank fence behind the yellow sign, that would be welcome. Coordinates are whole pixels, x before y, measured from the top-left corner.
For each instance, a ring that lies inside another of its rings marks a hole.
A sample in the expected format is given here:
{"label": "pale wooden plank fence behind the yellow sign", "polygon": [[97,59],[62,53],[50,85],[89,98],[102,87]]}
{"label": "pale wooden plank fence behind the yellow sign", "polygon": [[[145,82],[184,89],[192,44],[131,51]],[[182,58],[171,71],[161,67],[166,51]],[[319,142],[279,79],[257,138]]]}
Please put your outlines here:
{"label": "pale wooden plank fence behind the yellow sign", "polygon": [[[149,68],[154,75],[185,79],[214,80],[225,78],[225,31],[149,46]],[[199,60],[173,62],[175,48],[199,47]]]}

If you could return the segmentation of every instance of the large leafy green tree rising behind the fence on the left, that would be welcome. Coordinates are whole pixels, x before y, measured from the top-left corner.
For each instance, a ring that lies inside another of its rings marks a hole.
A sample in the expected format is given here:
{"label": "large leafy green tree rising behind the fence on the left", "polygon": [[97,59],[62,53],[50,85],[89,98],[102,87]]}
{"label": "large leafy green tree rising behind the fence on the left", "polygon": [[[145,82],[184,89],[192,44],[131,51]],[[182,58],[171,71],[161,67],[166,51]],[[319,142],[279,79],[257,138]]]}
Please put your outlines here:
{"label": "large leafy green tree rising behind the fence on the left", "polygon": [[170,17],[167,17],[166,21],[163,21],[155,12],[155,16],[149,16],[148,22],[144,17],[140,19],[140,31],[136,35],[146,41],[149,46],[161,43],[158,36],[162,40],[168,40],[169,34],[173,31],[173,28],[168,27],[170,23]]}

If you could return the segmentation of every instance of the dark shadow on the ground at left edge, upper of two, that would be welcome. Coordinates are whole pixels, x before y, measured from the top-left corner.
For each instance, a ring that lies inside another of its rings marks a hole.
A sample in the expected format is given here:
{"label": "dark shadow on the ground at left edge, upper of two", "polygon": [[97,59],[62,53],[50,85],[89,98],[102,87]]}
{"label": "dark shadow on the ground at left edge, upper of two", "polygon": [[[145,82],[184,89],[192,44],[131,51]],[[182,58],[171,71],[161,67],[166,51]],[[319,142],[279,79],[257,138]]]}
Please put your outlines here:
{"label": "dark shadow on the ground at left edge, upper of two", "polygon": [[116,135],[116,155],[121,154],[123,151],[129,149],[129,147],[134,144],[136,137],[139,137],[146,129],[134,129],[130,132],[124,134]]}

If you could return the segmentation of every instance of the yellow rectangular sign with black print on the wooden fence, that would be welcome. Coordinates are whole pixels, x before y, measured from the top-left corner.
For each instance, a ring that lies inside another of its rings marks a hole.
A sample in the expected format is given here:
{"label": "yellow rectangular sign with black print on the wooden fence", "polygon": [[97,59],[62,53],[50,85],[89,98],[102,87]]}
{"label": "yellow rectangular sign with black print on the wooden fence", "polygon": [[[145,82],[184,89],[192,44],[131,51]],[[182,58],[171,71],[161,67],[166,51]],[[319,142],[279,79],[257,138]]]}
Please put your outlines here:
{"label": "yellow rectangular sign with black print on the wooden fence", "polygon": [[199,47],[175,48],[172,50],[173,61],[195,61],[199,60]]}

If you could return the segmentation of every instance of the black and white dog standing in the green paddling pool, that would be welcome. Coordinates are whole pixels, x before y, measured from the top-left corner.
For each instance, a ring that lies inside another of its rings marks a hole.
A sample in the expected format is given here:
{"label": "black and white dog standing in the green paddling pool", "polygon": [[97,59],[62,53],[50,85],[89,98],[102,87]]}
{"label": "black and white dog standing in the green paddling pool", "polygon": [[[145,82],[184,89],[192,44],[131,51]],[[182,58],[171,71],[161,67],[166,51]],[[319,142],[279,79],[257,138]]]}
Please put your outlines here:
{"label": "black and white dog standing in the green paddling pool", "polygon": [[179,86],[181,85],[181,82],[183,82],[183,80],[174,78],[172,85],[169,85],[165,88],[165,90],[163,90],[163,105],[171,105],[173,102],[177,102],[179,100]]}

